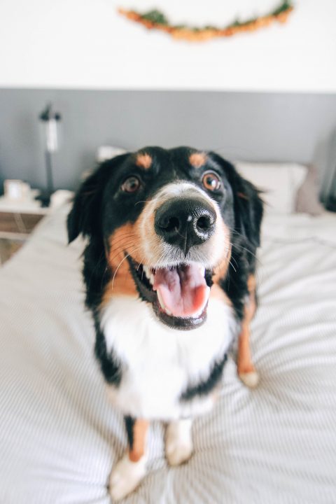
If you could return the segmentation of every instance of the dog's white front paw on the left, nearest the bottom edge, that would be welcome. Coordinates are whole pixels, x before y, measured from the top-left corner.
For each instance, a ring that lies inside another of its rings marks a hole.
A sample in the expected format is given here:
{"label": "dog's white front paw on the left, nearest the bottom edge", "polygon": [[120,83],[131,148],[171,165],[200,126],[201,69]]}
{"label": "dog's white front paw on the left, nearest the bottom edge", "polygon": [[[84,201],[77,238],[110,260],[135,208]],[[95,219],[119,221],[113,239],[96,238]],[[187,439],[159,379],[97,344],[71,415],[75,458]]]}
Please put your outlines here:
{"label": "dog's white front paw on the left, nearest the bottom edge", "polygon": [[146,475],[146,457],[138,462],[130,461],[128,453],[113,468],[110,476],[110,495],[114,500],[120,500],[137,488]]}

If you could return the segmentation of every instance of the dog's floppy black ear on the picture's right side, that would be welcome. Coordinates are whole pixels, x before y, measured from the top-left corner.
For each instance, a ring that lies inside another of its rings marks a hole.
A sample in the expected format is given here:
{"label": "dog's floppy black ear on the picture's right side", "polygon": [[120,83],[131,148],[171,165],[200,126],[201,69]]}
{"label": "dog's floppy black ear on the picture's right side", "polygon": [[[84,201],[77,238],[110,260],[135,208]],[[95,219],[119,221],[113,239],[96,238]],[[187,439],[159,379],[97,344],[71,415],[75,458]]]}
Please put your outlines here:
{"label": "dog's floppy black ear on the picture's right side", "polygon": [[244,179],[228,161],[218,154],[211,158],[224,169],[232,188],[235,211],[235,228],[254,248],[260,246],[260,225],[262,221],[262,191]]}

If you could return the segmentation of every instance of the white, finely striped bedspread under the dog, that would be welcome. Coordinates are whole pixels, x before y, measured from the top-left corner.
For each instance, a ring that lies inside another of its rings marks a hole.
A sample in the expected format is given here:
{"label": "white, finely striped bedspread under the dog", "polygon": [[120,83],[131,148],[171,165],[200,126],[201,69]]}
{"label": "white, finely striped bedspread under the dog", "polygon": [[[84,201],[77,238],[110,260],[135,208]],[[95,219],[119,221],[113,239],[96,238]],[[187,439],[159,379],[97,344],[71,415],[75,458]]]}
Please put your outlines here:
{"label": "white, finely striped bedspread under the dog", "polygon": [[[83,311],[78,241],[48,216],[0,270],[0,503],[109,503],[126,447]],[[267,218],[248,390],[232,358],[195,454],[171,469],[150,433],[148,477],[127,503],[336,502],[336,216]]]}

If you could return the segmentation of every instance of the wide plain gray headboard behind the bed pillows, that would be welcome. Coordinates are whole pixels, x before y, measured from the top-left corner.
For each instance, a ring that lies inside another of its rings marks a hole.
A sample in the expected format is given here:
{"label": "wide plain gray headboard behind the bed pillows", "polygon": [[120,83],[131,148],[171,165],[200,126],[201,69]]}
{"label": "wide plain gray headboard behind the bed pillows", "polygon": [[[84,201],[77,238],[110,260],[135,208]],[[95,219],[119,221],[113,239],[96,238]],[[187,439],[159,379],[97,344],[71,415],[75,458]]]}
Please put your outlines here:
{"label": "wide plain gray headboard behind the bed pillows", "polygon": [[235,160],[310,163],[336,125],[336,94],[0,90],[0,178],[45,186],[38,113],[62,113],[55,186],[74,188],[99,145],[190,145]]}

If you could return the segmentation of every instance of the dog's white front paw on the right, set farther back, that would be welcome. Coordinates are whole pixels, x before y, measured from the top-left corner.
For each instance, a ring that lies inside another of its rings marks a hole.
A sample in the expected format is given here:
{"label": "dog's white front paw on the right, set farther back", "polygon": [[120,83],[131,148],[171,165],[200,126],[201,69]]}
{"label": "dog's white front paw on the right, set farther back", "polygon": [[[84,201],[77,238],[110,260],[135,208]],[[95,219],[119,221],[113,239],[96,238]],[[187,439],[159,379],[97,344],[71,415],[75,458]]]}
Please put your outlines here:
{"label": "dog's white front paw on the right, set farther back", "polygon": [[169,423],[166,432],[166,456],[170,465],[186,462],[193,453],[191,420]]}

